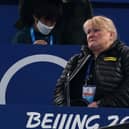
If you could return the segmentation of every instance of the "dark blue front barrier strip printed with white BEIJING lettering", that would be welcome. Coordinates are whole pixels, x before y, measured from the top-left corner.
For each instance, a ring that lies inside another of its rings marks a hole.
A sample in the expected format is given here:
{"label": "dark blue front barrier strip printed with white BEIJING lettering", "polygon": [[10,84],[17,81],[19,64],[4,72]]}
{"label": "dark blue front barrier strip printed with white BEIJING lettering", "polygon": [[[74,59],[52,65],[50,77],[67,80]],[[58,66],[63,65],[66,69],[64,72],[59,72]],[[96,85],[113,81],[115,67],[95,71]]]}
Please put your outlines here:
{"label": "dark blue front barrier strip printed with white BEIJING lettering", "polygon": [[99,129],[125,122],[129,122],[128,109],[43,105],[0,106],[2,129]]}

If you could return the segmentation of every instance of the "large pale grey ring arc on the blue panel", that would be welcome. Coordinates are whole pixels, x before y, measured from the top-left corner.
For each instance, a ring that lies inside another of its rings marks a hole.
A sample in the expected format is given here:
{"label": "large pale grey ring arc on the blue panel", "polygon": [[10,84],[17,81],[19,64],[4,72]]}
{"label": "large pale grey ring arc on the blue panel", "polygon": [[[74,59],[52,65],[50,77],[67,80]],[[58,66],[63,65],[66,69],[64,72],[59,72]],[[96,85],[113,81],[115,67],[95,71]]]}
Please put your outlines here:
{"label": "large pale grey ring arc on the blue panel", "polygon": [[49,62],[59,65],[60,67],[65,67],[67,61],[61,57],[57,57],[54,55],[48,54],[37,54],[32,56],[27,56],[15,64],[13,64],[3,75],[1,82],[0,82],[0,104],[6,104],[6,90],[7,86],[12,79],[12,77],[23,67],[36,63],[36,62]]}

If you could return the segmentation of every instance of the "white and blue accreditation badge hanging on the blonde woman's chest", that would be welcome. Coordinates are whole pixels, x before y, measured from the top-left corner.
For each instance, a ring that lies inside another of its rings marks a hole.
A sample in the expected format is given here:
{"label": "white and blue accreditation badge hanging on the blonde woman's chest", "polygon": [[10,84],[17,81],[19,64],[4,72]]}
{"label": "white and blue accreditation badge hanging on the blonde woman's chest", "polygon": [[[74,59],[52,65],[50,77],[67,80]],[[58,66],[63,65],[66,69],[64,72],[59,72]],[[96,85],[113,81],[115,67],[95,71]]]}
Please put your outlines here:
{"label": "white and blue accreditation badge hanging on the blonde woman's chest", "polygon": [[82,98],[88,101],[89,103],[92,103],[94,101],[95,92],[96,92],[95,85],[85,84],[82,87]]}

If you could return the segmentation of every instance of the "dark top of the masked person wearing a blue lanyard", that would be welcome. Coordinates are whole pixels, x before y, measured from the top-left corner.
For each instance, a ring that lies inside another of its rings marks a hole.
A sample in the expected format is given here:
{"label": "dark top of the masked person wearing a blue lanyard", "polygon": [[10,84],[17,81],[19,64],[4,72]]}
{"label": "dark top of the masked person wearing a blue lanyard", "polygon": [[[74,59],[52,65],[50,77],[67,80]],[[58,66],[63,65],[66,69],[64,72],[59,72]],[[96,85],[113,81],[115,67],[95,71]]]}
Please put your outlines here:
{"label": "dark top of the masked person wearing a blue lanyard", "polygon": [[[53,37],[53,43],[57,44],[54,34],[51,34]],[[45,40],[49,43],[50,34],[43,35],[40,32],[34,31],[35,40]],[[24,27],[22,30],[18,31],[13,39],[13,43],[17,44],[33,44],[32,35],[30,32],[30,27]]]}

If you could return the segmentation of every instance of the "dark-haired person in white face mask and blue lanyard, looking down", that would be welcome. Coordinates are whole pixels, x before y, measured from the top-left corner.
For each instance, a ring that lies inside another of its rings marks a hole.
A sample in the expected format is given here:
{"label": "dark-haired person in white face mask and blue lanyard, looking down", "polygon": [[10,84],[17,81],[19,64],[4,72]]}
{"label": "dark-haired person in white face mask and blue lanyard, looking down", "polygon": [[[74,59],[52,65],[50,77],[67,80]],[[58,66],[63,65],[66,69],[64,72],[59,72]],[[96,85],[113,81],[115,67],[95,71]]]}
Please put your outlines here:
{"label": "dark-haired person in white face mask and blue lanyard, looking down", "polygon": [[58,0],[22,0],[20,3],[20,30],[13,43],[58,44],[54,28],[61,16],[61,3]]}

